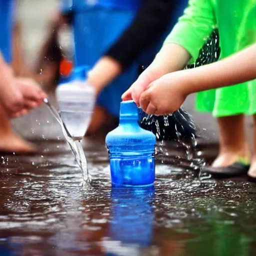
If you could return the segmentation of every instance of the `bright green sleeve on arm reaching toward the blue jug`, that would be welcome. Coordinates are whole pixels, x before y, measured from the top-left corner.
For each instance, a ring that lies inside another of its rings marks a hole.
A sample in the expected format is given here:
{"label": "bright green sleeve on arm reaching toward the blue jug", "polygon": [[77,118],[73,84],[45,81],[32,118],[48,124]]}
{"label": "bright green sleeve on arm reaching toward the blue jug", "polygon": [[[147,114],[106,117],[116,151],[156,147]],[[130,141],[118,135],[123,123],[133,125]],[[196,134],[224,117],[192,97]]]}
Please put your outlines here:
{"label": "bright green sleeve on arm reaching toward the blue jug", "polygon": [[190,63],[193,63],[215,24],[211,0],[189,0],[184,14],[178,19],[164,44],[176,43],[184,47],[191,55]]}

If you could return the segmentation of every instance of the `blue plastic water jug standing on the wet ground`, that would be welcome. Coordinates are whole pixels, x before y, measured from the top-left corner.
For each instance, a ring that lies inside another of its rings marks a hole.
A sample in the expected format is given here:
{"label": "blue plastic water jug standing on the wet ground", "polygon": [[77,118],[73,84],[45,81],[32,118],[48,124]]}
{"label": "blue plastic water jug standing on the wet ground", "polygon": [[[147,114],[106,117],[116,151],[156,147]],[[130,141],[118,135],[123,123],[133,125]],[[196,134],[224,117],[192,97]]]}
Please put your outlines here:
{"label": "blue plastic water jug standing on the wet ground", "polygon": [[156,138],[138,125],[138,109],[132,100],[121,102],[119,126],[106,135],[105,142],[112,185],[153,185]]}

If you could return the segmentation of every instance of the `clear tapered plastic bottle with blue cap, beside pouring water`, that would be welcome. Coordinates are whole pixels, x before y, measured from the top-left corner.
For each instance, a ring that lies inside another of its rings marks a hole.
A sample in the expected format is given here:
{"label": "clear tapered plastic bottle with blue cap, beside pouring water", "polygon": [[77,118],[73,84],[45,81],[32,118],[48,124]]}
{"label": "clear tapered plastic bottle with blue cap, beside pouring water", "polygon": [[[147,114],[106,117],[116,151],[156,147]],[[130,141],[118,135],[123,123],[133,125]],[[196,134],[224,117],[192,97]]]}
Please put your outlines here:
{"label": "clear tapered plastic bottle with blue cap, beside pouring water", "polygon": [[60,117],[74,140],[84,136],[96,97],[94,88],[85,82],[85,72],[85,67],[76,67],[71,78],[56,89]]}

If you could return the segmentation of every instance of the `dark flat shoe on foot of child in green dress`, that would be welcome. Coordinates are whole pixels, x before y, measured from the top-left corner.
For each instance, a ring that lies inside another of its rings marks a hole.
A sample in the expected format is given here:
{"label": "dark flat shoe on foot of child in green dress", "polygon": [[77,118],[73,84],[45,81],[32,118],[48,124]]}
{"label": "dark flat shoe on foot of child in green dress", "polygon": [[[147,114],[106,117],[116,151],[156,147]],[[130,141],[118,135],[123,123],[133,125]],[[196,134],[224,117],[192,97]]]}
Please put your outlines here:
{"label": "dark flat shoe on foot of child in green dress", "polygon": [[202,172],[206,172],[211,174],[213,177],[234,177],[246,174],[249,170],[249,164],[243,164],[241,162],[234,162],[231,165],[224,166],[224,167],[211,167],[206,166],[202,168]]}

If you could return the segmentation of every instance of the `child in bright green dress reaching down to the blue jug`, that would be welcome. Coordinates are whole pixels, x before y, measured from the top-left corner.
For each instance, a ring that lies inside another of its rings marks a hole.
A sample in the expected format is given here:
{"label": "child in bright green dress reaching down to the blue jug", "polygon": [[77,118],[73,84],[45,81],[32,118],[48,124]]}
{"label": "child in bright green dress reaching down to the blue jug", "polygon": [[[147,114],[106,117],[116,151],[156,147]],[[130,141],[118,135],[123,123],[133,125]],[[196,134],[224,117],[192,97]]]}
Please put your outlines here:
{"label": "child in bright green dress reaching down to the blue jug", "polygon": [[[255,43],[255,13],[255,0],[189,0],[184,15],[165,39],[154,61],[122,95],[122,99],[132,98],[139,104],[141,93],[157,79],[183,69],[188,62],[193,63],[214,27],[219,31],[220,58]],[[255,88],[253,80],[198,92],[197,110],[212,112],[219,130],[218,156],[203,171],[231,176],[248,170],[251,155],[245,138],[244,114],[256,113]]]}

